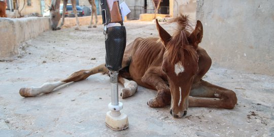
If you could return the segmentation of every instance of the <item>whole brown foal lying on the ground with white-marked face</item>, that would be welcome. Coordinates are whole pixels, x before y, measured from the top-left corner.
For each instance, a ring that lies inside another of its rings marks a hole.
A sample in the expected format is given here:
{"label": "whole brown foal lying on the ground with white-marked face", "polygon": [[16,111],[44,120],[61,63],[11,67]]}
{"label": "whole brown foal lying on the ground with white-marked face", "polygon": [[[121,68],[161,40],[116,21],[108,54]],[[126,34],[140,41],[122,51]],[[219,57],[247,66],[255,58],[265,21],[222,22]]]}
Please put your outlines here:
{"label": "whole brown foal lying on the ground with white-marked face", "polygon": [[[188,107],[233,109],[237,97],[232,90],[202,80],[212,60],[204,49],[198,47],[203,36],[201,22],[197,21],[195,29],[184,15],[170,22],[178,23],[173,36],[156,20],[160,39],[137,38],[126,46],[118,77],[124,85],[122,98],[133,95],[141,85],[157,90],[157,94],[147,102],[148,106],[157,108],[170,104],[170,114],[176,118],[185,116]],[[105,64],[75,72],[62,81],[21,88],[19,93],[25,97],[48,93],[60,85],[85,80],[96,73],[108,73]]]}

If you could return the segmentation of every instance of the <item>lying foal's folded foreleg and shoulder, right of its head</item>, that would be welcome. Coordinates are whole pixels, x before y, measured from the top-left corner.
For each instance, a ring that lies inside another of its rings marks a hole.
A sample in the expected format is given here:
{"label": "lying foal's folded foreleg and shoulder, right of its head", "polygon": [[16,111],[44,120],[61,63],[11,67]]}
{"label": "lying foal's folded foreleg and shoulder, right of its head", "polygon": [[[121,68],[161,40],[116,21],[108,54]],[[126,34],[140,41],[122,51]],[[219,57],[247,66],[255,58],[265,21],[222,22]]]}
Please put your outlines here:
{"label": "lying foal's folded foreleg and shoulder, right of its head", "polygon": [[201,80],[211,66],[211,58],[202,48],[198,48],[197,53],[199,55],[199,71],[195,76],[191,87],[189,107],[216,107],[232,109],[237,103],[235,92]]}

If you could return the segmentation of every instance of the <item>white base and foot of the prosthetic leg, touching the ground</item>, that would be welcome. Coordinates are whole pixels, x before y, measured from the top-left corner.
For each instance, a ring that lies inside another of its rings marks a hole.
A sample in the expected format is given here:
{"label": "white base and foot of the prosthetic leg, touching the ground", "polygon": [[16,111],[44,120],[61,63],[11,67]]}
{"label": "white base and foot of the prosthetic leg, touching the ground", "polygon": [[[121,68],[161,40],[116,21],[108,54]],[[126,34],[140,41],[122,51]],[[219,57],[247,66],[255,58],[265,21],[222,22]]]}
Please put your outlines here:
{"label": "white base and foot of the prosthetic leg, touching the ground", "polygon": [[106,125],[115,131],[126,129],[128,127],[127,115],[120,113],[120,110],[123,109],[123,104],[119,102],[118,106],[113,106],[110,103],[109,109],[111,111],[107,112]]}

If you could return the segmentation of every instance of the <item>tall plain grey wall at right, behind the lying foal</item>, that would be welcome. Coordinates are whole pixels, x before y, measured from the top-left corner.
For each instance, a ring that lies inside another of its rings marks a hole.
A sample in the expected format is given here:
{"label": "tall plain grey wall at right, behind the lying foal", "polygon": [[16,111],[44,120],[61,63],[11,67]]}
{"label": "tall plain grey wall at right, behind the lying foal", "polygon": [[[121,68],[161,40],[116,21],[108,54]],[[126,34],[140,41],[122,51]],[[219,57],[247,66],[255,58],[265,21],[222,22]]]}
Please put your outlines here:
{"label": "tall plain grey wall at right, behind the lying foal", "polygon": [[274,76],[274,1],[197,1],[201,47],[214,64]]}

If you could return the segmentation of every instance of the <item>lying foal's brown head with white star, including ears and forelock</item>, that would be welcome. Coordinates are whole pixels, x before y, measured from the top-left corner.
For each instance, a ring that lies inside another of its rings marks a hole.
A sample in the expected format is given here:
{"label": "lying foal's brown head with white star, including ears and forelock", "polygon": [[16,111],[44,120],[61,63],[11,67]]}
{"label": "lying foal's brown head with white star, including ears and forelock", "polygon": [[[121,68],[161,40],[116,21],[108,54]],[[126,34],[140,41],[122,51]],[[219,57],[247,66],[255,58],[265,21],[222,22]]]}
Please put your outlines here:
{"label": "lying foal's brown head with white star, including ears and forelock", "polygon": [[[187,114],[188,97],[195,74],[198,72],[198,44],[202,39],[202,24],[197,21],[193,30],[188,17],[181,15],[170,22],[178,23],[178,30],[170,36],[156,20],[165,47],[162,69],[167,76],[172,96],[170,114],[181,118]],[[188,32],[190,29],[192,33]]]}

